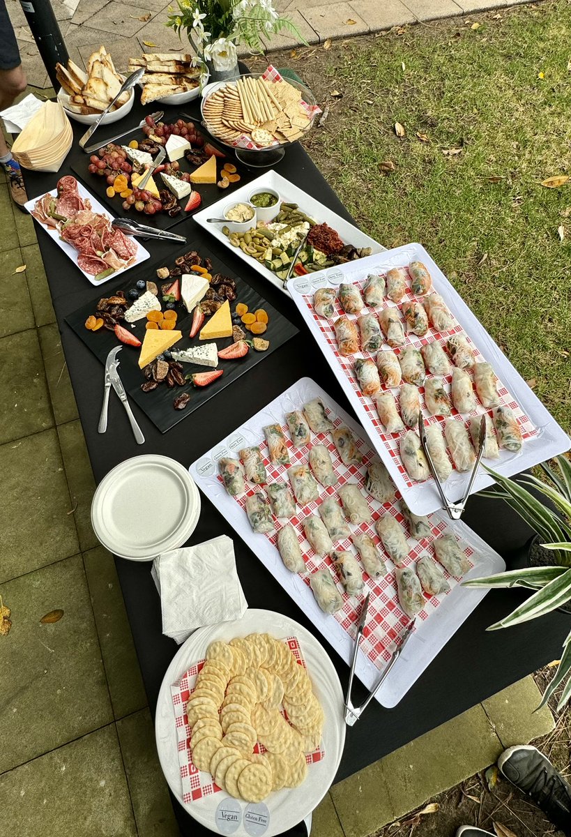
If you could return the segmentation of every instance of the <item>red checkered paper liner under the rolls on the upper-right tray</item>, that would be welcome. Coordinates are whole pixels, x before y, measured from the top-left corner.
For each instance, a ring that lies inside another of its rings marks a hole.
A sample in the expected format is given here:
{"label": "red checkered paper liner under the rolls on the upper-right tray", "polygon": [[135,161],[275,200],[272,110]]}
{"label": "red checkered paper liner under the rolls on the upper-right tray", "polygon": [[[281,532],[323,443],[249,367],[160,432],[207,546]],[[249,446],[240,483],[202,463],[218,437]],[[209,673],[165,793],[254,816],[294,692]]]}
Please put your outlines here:
{"label": "red checkered paper liner under the rolls on the upper-right tray", "polygon": [[[408,277],[408,280],[410,282],[410,274],[409,274],[408,268],[404,268],[404,271],[405,271],[405,273]],[[372,273],[372,272],[373,272],[373,270],[368,270],[368,273]],[[357,276],[357,275],[362,275],[362,273],[363,273],[363,270],[360,270],[360,271],[355,270],[353,272],[345,272],[344,276],[343,276],[343,280],[346,281],[348,284],[355,285],[358,288],[358,290],[361,291],[361,290],[363,290],[363,285],[365,285],[365,281],[366,281],[367,277],[365,276],[365,277],[363,277],[363,279],[358,280],[358,281],[353,281],[353,277]],[[327,283],[324,283],[324,284],[327,284]],[[359,389],[359,383],[358,383],[357,376],[353,372],[353,366],[354,366],[354,363],[355,363],[355,361],[357,360],[358,357],[371,358],[374,361],[377,357],[377,352],[373,352],[373,353],[355,352],[354,354],[349,355],[348,357],[343,357],[343,355],[339,353],[338,348],[337,348],[337,339],[335,337],[335,331],[333,329],[333,323],[341,316],[347,317],[348,320],[357,321],[360,316],[364,316],[365,314],[374,313],[374,314],[378,315],[378,314],[380,314],[381,311],[383,311],[384,308],[395,308],[395,309],[399,310],[400,306],[402,306],[404,304],[404,302],[407,302],[409,300],[415,300],[415,301],[422,302],[426,297],[425,296],[415,296],[413,294],[412,290],[410,290],[410,286],[407,285],[407,292],[405,293],[403,299],[399,302],[399,305],[395,305],[394,302],[391,302],[390,300],[385,299],[383,301],[383,306],[378,306],[377,308],[370,308],[368,306],[364,306],[363,311],[360,311],[358,314],[346,314],[345,311],[343,311],[342,306],[341,306],[341,304],[340,304],[340,302],[337,298],[335,300],[335,313],[329,319],[325,319],[324,317],[319,316],[313,310],[313,292],[308,293],[308,294],[303,294],[303,295],[301,295],[301,298],[303,299],[304,303],[306,304],[308,310],[311,311],[311,316],[313,317],[313,320],[315,321],[316,326],[319,328],[319,331],[321,331],[322,335],[325,337],[328,347],[331,349],[333,355],[335,356],[335,358],[337,360],[337,364],[339,366],[339,369],[341,370],[342,374],[345,377],[347,377],[347,380],[349,381],[349,383],[351,383],[351,386],[352,386],[359,402],[363,406],[363,409],[364,409],[365,413],[367,413],[367,415],[368,415],[368,419],[370,419],[370,421],[372,422],[374,428],[376,429],[376,431],[378,433],[379,438],[382,439],[384,447],[387,450],[387,453],[389,454],[391,459],[394,460],[394,464],[397,466],[397,468],[399,470],[399,474],[402,476],[405,485],[407,485],[408,488],[412,488],[414,485],[419,485],[417,480],[411,479],[407,470],[404,468],[402,460],[400,459],[400,452],[399,452],[400,439],[407,432],[407,430],[409,430],[409,428],[405,427],[404,430],[402,430],[400,433],[394,433],[394,434],[386,433],[385,429],[383,427],[383,423],[378,418],[377,408],[375,407],[375,403],[373,401],[373,398],[371,398],[370,396],[367,396],[367,395],[363,395],[363,393]],[[450,331],[445,331],[445,332],[435,331],[435,328],[433,326],[429,326],[429,330],[426,332],[424,337],[419,337],[419,336],[416,336],[415,334],[411,334],[409,331],[407,331],[406,323],[404,322],[404,317],[402,316],[402,314],[400,315],[400,319],[401,319],[401,321],[403,322],[403,325],[404,325],[405,344],[404,344],[403,347],[394,349],[394,352],[397,355],[399,355],[400,352],[402,352],[402,350],[405,347],[414,346],[415,348],[420,349],[420,347],[423,346],[424,344],[436,341],[436,342],[440,343],[440,345],[445,350],[446,356],[449,357],[449,359],[450,359],[450,355],[448,354],[448,352],[446,352],[445,343],[450,338],[450,336],[452,336],[453,334],[463,333],[464,336],[466,336],[466,340],[470,344],[470,346],[471,346],[471,348],[472,348],[472,350],[473,350],[473,352],[476,356],[476,362],[485,361],[487,359],[486,357],[483,357],[481,355],[481,352],[479,352],[479,350],[475,346],[474,342],[471,341],[470,336],[468,336],[466,334],[466,332],[462,329],[462,327],[460,325],[458,325],[458,323],[455,323],[455,326],[453,328],[451,328]],[[386,343],[383,344],[383,345],[384,345],[385,348],[387,347]],[[379,349],[378,351],[382,352],[383,349]],[[450,394],[450,382],[452,380],[452,367],[453,367],[453,363],[450,359],[450,373],[448,375],[446,375],[444,377],[439,376],[439,375],[435,376],[435,375],[432,375],[427,369],[426,370],[426,377],[443,377],[443,382],[445,384],[447,384],[447,386],[445,386],[445,389]],[[468,370],[466,370],[466,371],[468,372]],[[383,384],[381,384],[381,387],[385,392],[390,392],[391,391],[387,387],[384,387]],[[399,389],[400,389],[399,387],[395,388],[395,390],[397,392],[399,391]],[[537,434],[537,430],[534,428],[531,420],[527,418],[527,415],[522,411],[522,408],[520,408],[517,401],[507,391],[507,388],[503,385],[503,383],[501,381],[498,381],[497,391],[498,391],[498,394],[499,394],[499,397],[500,397],[500,403],[502,404],[502,407],[509,407],[513,410],[513,413],[517,418],[517,424],[519,424],[519,427],[522,431],[523,439],[529,439],[532,436],[535,436]],[[420,404],[421,404],[421,407],[423,408],[424,423],[425,424],[426,423],[440,424],[440,429],[442,429],[442,431],[444,432],[444,426],[445,426],[446,420],[450,417],[449,416],[446,416],[446,417],[431,416],[428,408],[426,407],[426,403],[424,402],[424,387],[419,387],[419,393],[420,393]],[[475,394],[476,394],[476,390],[475,390]],[[476,394],[476,398],[477,398],[477,394]],[[397,398],[397,401],[398,401],[398,398]],[[450,401],[451,401],[451,398],[450,398]],[[491,409],[486,410],[486,408],[482,407],[481,404],[478,403],[478,406],[475,410],[473,410],[471,413],[466,413],[466,414],[458,413],[458,411],[453,407],[452,408],[452,413],[451,413],[451,418],[455,418],[456,416],[460,416],[460,419],[462,419],[462,421],[465,424],[467,424],[467,422],[471,419],[472,416],[481,415],[483,413],[488,413],[491,417],[492,410]],[[454,462],[451,460],[451,458],[450,458],[450,463],[451,463],[451,465],[454,466]],[[433,479],[432,476],[429,477],[429,480],[434,482],[434,479]]]}

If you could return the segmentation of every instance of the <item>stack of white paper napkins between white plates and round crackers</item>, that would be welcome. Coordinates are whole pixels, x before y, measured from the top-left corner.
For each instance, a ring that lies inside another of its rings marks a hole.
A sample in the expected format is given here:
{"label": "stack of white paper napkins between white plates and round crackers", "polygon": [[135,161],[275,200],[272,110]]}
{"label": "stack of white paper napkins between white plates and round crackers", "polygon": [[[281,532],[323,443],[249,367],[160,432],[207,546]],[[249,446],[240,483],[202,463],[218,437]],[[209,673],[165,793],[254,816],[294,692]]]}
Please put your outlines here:
{"label": "stack of white paper napkins between white plates and round crackers", "polygon": [[226,535],[162,552],[152,562],[152,578],[161,596],[162,633],[178,644],[203,625],[239,619],[248,607]]}

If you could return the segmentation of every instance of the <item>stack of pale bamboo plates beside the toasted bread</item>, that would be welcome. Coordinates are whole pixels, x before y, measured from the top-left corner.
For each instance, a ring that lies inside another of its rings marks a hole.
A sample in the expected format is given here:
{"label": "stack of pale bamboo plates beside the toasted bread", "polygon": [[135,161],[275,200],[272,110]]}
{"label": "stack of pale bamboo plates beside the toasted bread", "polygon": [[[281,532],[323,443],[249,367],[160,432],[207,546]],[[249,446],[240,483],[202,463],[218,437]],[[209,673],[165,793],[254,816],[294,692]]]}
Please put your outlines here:
{"label": "stack of pale bamboo plates beside the toasted bread", "polygon": [[57,172],[71,148],[74,134],[59,102],[47,101],[12,146],[20,166],[36,172]]}

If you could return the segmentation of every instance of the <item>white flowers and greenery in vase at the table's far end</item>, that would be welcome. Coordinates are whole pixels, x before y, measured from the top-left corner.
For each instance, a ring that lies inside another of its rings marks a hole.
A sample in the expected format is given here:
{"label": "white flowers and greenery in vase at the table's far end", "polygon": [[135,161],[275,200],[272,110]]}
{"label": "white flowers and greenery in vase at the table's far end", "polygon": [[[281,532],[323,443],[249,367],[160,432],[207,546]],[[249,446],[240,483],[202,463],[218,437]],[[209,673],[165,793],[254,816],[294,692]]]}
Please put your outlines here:
{"label": "white flowers and greenery in vase at the table's far end", "polygon": [[179,36],[187,33],[211,81],[238,78],[238,44],[263,52],[262,36],[281,29],[306,44],[296,25],[278,15],[273,0],[177,0],[177,5],[178,11],[169,13],[166,25]]}

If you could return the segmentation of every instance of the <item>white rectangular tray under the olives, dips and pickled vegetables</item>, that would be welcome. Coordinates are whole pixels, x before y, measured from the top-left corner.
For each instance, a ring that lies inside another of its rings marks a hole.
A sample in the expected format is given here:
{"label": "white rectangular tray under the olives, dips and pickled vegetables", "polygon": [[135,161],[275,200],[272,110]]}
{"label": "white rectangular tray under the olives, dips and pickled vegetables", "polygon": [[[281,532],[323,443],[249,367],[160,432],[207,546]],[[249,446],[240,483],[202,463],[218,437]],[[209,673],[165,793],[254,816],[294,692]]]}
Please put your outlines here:
{"label": "white rectangular tray under the olives, dips and pickled vegetables", "polygon": [[[378,241],[363,233],[354,224],[349,223],[341,215],[337,215],[332,209],[327,208],[323,203],[317,201],[316,198],[312,198],[303,189],[294,186],[293,183],[286,180],[286,177],[281,177],[280,174],[273,170],[265,172],[260,177],[256,177],[252,182],[247,183],[245,186],[233,192],[230,197],[221,198],[216,203],[213,203],[206,209],[201,209],[200,212],[193,215],[193,219],[199,226],[208,230],[208,233],[212,234],[221,244],[224,244],[224,247],[228,247],[240,259],[244,259],[252,270],[256,270],[265,279],[269,280],[272,285],[275,285],[276,288],[283,290],[285,294],[287,293],[286,286],[282,280],[278,279],[275,273],[272,273],[264,264],[260,264],[259,261],[244,253],[239,247],[233,247],[229,243],[227,236],[222,232],[222,228],[224,227],[223,223],[207,223],[206,220],[207,218],[223,218],[224,207],[228,203],[245,201],[248,199],[249,193],[254,192],[256,189],[265,188],[274,189],[280,195],[281,200],[286,201],[286,203],[298,203],[301,211],[309,215],[310,218],[314,218],[317,223],[328,223],[330,227],[337,230],[337,233],[346,244],[352,244],[354,247],[370,247],[373,253],[381,253],[386,249],[382,244],[378,244]],[[334,269],[332,268],[331,270]]]}

